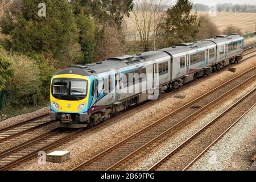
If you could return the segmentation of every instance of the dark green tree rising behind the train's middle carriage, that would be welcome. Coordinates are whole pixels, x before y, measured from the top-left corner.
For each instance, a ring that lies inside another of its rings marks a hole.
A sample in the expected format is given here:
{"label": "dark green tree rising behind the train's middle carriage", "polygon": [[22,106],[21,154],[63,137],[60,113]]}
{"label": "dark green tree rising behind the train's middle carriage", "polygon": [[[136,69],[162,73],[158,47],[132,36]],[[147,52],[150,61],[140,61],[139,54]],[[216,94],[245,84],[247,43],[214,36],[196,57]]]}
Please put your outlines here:
{"label": "dark green tree rising behind the train's middle carriage", "polygon": [[192,6],[189,0],[178,0],[175,6],[167,10],[167,18],[162,24],[166,47],[196,39],[199,24],[197,14],[190,14]]}

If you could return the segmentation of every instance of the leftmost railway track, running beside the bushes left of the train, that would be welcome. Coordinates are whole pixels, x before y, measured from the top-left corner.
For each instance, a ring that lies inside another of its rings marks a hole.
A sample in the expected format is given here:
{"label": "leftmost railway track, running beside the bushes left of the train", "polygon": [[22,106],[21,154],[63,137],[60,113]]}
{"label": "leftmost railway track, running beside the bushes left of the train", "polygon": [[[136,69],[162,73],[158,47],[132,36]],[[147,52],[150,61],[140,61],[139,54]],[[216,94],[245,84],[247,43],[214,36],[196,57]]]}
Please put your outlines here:
{"label": "leftmost railway track, running beside the bushes left of the train", "polygon": [[49,115],[45,114],[40,117],[29,119],[22,123],[18,123],[16,125],[6,127],[5,129],[0,130],[0,142],[10,140],[14,137],[18,137],[19,135],[22,135],[32,130],[36,130],[40,127],[49,125],[52,122],[53,121],[50,121],[49,119]]}

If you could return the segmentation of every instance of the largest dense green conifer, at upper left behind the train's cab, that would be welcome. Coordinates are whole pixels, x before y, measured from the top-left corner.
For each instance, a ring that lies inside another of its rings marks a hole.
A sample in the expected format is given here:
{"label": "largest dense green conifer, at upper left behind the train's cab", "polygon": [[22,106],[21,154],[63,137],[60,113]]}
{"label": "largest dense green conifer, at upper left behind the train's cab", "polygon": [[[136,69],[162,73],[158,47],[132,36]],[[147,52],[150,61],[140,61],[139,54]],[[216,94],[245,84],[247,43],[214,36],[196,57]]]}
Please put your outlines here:
{"label": "largest dense green conifer, at upper left behind the train's cab", "polygon": [[[22,0],[18,6],[19,9],[15,10],[20,14],[13,15],[14,29],[9,28],[11,31],[6,32],[11,35],[14,51],[47,52],[61,60],[63,58],[61,55],[79,40],[71,6],[65,0],[49,0],[46,2],[46,17],[39,17],[40,2],[39,0]],[[14,6],[15,3],[20,2],[14,2]],[[1,28],[5,27],[1,24]]]}

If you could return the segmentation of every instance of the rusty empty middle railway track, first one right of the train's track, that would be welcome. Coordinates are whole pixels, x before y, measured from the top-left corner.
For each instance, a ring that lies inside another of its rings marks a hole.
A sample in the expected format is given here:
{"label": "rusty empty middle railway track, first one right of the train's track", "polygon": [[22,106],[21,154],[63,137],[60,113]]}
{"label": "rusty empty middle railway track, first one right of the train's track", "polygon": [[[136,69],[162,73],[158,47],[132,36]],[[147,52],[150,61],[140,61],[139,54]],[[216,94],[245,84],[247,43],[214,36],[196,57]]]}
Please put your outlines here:
{"label": "rusty empty middle railway track, first one right of the train's track", "polygon": [[178,123],[186,121],[192,115],[199,113],[221,98],[224,98],[226,94],[233,92],[234,89],[242,86],[245,82],[253,80],[255,78],[255,71],[256,67],[234,77],[232,80],[225,82],[196,100],[167,114],[165,117],[73,168],[73,170],[113,169],[118,166],[119,162],[128,159],[129,156],[134,154],[133,152],[138,151],[152,139],[158,137],[171,127],[178,125]]}

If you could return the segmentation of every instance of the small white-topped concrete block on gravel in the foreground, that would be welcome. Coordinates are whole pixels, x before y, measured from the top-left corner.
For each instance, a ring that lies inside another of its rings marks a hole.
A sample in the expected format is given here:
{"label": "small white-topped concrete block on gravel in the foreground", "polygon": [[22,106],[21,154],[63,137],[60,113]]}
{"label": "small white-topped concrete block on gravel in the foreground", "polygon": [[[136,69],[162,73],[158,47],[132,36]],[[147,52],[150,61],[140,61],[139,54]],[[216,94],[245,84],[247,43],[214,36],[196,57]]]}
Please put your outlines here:
{"label": "small white-topped concrete block on gravel in the foreground", "polygon": [[69,151],[54,151],[46,156],[46,160],[52,163],[63,163],[70,158]]}

